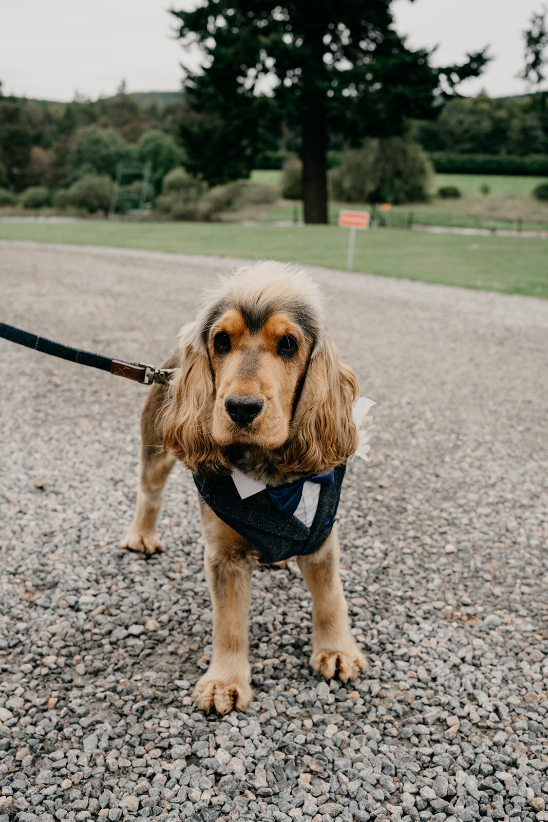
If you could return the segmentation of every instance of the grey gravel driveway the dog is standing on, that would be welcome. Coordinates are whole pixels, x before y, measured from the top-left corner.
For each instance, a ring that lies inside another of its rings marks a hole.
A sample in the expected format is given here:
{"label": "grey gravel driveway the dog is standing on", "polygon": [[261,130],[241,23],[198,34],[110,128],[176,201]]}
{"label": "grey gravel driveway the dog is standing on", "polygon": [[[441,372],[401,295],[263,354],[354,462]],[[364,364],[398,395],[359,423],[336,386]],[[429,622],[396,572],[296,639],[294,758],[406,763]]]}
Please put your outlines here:
{"label": "grey gravel driveway the dog is standing on", "polygon": [[[159,364],[233,265],[2,242],[0,319]],[[256,570],[255,701],[197,712],[211,608],[182,469],[163,553],[118,547],[146,389],[0,340],[0,822],[548,820],[548,302],[313,274],[378,403],[339,515],[369,670],[315,677],[297,566]]]}

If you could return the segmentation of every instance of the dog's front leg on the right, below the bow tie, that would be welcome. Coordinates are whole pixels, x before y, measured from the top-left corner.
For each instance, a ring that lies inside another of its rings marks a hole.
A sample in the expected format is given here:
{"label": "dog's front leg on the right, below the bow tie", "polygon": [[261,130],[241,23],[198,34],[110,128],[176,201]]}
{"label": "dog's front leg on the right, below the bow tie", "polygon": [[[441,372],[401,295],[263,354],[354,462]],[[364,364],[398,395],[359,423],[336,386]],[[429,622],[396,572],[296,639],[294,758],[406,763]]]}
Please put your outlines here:
{"label": "dog's front leg on the right, below the bow tie", "polygon": [[348,606],[338,574],[340,549],[335,529],[319,551],[297,556],[308,589],[312,594],[311,666],[327,679],[347,682],[356,679],[366,667],[348,626]]}

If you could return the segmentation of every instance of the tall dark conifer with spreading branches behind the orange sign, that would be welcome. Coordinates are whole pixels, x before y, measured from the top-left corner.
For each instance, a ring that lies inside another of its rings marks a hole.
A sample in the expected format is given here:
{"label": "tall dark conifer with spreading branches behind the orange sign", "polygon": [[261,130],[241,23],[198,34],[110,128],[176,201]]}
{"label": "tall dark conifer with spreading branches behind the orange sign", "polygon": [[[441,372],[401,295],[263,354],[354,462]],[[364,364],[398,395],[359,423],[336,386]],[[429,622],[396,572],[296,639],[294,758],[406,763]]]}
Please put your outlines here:
{"label": "tall dark conifer with spreading branches behind the orange sign", "polygon": [[350,141],[402,132],[485,66],[486,51],[443,69],[392,27],[391,0],[204,0],[173,12],[203,68],[186,69],[182,136],[193,170],[210,182],[249,173],[268,118],[301,134],[306,223],[327,222],[329,134]]}

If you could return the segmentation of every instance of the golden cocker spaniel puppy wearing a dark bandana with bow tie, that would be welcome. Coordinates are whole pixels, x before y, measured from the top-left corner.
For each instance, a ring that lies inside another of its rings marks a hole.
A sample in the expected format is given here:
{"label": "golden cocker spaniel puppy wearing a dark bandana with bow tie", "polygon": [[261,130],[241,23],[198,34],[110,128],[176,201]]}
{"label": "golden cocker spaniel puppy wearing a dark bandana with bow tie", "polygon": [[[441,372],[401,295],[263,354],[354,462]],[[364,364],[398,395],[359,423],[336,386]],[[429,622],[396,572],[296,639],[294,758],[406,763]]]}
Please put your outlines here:
{"label": "golden cocker spaniel puppy wearing a dark bandana with bow tie", "polygon": [[311,665],[354,679],[365,660],[348,626],[334,515],[357,450],[356,376],[325,328],[302,271],[260,262],[221,280],[182,329],[142,413],[136,515],[122,545],[154,553],[163,486],[180,459],[194,475],[213,603],[213,658],[201,709],[251,700],[247,613],[254,563],[295,556],[311,591]]}

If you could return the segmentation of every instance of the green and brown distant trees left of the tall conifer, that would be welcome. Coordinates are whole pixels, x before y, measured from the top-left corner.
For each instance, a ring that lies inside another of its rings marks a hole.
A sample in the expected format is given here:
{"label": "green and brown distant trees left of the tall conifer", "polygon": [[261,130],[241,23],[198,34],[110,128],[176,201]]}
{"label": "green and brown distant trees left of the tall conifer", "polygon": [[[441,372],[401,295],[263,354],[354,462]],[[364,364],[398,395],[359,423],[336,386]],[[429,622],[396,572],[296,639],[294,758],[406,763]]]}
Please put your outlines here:
{"label": "green and brown distant trees left of the tall conifer", "polygon": [[114,178],[119,162],[151,162],[154,182],[182,163],[182,100],[140,105],[126,94],[71,103],[2,96],[0,187],[69,187],[85,173]]}

